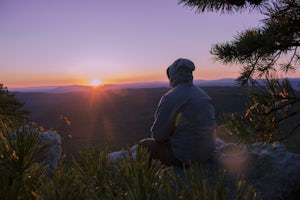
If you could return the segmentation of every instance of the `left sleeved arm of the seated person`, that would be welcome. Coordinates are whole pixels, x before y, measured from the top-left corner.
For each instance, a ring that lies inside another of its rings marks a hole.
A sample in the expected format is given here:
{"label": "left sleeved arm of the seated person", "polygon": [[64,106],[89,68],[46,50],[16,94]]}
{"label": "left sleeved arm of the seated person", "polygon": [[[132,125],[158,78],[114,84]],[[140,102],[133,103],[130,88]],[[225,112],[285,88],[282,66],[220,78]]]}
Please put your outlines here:
{"label": "left sleeved arm of the seated person", "polygon": [[167,96],[161,98],[151,127],[152,137],[156,141],[167,142],[172,135],[175,107],[174,103]]}

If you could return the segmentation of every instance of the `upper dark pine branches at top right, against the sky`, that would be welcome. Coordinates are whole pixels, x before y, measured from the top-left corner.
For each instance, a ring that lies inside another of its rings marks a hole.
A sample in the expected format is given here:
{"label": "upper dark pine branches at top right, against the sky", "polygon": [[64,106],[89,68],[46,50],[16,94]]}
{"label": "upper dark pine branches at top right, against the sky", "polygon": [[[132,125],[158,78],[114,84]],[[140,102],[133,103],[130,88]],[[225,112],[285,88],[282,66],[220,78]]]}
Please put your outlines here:
{"label": "upper dark pine branches at top right, against the sky", "polygon": [[[272,72],[294,72],[299,65],[300,2],[298,0],[181,0],[199,12],[237,12],[257,8],[265,16],[261,26],[237,34],[231,42],[215,44],[211,53],[225,64],[242,66],[238,81],[261,78]],[[284,58],[284,59],[283,59]]]}

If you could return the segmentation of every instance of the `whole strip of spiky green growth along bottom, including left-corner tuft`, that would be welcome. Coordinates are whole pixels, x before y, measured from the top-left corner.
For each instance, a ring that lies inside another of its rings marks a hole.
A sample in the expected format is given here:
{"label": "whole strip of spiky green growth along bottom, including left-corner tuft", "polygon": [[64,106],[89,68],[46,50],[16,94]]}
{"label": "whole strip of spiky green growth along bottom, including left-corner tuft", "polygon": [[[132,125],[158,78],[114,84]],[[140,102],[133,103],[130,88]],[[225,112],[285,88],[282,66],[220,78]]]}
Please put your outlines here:
{"label": "whole strip of spiky green growth along bottom, including left-corner tuft", "polygon": [[135,159],[118,160],[108,159],[107,150],[86,150],[49,176],[35,154],[40,147],[34,130],[0,133],[1,199],[258,199],[242,180],[228,187],[225,172],[149,164],[144,149]]}

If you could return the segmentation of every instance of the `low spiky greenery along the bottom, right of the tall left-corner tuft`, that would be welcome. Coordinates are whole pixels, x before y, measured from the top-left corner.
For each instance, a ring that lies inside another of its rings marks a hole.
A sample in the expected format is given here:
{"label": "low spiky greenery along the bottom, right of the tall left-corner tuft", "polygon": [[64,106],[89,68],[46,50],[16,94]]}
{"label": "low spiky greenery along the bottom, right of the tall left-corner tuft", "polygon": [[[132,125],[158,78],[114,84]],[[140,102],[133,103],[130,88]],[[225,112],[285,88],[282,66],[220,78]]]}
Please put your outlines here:
{"label": "low spiky greenery along the bottom, right of the tall left-corner tuft", "polygon": [[[160,162],[149,165],[148,152],[139,149],[118,160],[107,159],[107,151],[87,150],[62,165],[52,179],[43,182],[39,199],[258,199],[245,182],[239,180],[234,193],[224,186],[224,172],[208,173],[192,165],[175,173]],[[124,154],[125,155],[125,154]],[[245,195],[247,194],[247,195]],[[243,197],[243,198],[241,198]]]}

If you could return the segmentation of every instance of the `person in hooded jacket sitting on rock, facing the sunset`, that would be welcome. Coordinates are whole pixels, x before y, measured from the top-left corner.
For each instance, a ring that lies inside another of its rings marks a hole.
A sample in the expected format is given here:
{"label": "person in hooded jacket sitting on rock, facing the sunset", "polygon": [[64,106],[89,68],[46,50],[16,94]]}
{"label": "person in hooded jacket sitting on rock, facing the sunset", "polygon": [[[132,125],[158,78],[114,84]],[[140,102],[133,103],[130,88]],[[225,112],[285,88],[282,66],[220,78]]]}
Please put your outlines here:
{"label": "person in hooded jacket sitting on rock, facing the sunset", "polygon": [[212,99],[193,84],[195,65],[180,58],[167,68],[172,89],[159,102],[151,127],[151,138],[139,147],[150,159],[167,166],[207,161],[215,151],[215,108]]}

